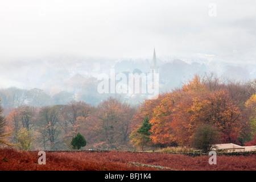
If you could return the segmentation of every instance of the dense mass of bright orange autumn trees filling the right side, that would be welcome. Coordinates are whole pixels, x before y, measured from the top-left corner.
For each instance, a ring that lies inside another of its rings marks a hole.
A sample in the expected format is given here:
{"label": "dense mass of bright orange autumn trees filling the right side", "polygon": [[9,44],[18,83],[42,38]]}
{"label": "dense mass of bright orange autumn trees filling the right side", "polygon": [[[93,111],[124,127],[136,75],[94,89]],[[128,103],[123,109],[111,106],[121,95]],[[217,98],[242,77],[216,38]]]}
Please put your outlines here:
{"label": "dense mass of bright orange autumn trees filling the right side", "polygon": [[[158,146],[191,145],[196,129],[206,124],[220,133],[218,142],[245,144],[256,134],[255,89],[255,80],[242,84],[195,76],[182,88],[145,101],[135,115],[132,135],[148,117],[151,142]],[[141,140],[134,137],[132,142]]]}

